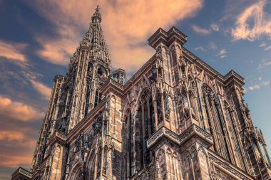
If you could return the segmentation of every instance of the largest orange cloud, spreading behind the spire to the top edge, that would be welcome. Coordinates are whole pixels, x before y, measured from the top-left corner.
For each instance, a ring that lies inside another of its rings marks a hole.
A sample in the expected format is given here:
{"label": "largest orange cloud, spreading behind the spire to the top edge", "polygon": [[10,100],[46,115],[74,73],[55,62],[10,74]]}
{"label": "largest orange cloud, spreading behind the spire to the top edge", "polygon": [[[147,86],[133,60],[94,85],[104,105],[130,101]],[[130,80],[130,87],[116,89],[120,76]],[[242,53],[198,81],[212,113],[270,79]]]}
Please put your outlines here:
{"label": "largest orange cloud, spreading behind the spire to the top edge", "polygon": [[[42,48],[37,52],[51,63],[66,65],[68,56],[76,51],[91,16],[101,7],[102,28],[108,42],[114,68],[133,71],[153,54],[147,39],[158,29],[167,30],[178,21],[193,17],[203,6],[203,0],[184,1],[32,1],[29,6],[53,23],[55,37],[37,36]],[[166,12],[166,13],[165,13]],[[151,21],[150,21],[151,19]],[[39,37],[39,38],[38,38]]]}

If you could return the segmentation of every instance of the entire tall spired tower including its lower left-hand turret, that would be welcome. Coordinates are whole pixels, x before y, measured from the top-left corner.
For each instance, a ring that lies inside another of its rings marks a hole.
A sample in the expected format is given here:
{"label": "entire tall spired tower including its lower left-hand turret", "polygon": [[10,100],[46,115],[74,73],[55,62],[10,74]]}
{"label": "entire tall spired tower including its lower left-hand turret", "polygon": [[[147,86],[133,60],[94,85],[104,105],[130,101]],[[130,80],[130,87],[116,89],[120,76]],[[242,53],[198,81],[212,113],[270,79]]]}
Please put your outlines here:
{"label": "entire tall spired tower including its lower left-hand turret", "polygon": [[66,76],[56,75],[54,79],[48,111],[31,164],[32,170],[46,157],[48,138],[53,132],[70,132],[103,98],[101,87],[111,78],[112,68],[101,20],[97,6],[88,31],[71,57]]}

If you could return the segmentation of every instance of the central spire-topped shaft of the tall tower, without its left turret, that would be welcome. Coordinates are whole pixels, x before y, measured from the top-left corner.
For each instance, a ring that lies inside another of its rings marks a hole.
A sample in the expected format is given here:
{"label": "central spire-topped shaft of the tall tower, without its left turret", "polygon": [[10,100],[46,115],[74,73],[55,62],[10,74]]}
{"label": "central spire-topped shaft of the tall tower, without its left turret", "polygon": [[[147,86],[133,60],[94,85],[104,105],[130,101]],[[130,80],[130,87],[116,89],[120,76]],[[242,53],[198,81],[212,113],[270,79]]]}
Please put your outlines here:
{"label": "central spire-topped shaft of the tall tower, without its left turret", "polygon": [[[62,112],[58,127],[70,132],[103,98],[102,85],[111,77],[111,57],[101,28],[101,13],[97,6],[91,24],[71,58],[63,92]],[[63,119],[63,120],[61,120]]]}

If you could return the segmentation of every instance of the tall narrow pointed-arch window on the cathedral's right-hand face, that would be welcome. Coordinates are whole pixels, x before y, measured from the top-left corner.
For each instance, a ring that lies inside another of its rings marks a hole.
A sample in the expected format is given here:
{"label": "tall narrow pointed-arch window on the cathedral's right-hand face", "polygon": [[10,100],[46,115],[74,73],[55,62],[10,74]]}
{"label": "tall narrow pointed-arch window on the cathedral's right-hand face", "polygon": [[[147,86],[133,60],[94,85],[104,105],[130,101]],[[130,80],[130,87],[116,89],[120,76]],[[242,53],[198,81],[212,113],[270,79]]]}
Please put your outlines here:
{"label": "tall narrow pointed-arch window on the cathedral's right-hand face", "polygon": [[230,159],[230,152],[227,144],[227,134],[225,132],[225,122],[218,97],[208,85],[203,84],[203,109],[206,112],[210,134],[214,137],[214,150],[225,159]]}

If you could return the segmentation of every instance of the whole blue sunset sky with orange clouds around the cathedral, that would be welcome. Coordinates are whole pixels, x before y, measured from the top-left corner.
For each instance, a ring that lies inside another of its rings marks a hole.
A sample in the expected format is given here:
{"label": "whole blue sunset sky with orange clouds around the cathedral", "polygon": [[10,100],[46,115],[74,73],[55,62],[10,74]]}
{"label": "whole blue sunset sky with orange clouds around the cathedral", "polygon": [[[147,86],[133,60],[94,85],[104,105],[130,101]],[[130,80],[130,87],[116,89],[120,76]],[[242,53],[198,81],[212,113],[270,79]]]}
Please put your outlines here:
{"label": "whole blue sunset sky with orange clouds around the cathedral", "polygon": [[[245,78],[245,102],[271,153],[271,1],[0,0],[0,180],[29,169],[53,77],[99,5],[113,68],[130,78],[154,53],[148,38],[175,26],[185,48],[222,75]],[[271,154],[270,154],[271,155]]]}

